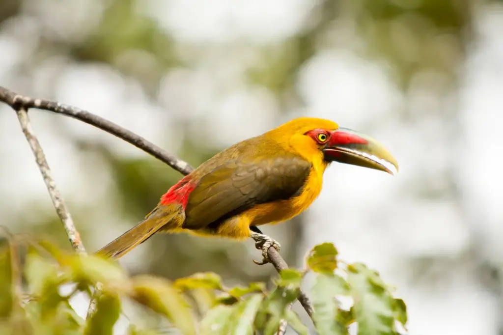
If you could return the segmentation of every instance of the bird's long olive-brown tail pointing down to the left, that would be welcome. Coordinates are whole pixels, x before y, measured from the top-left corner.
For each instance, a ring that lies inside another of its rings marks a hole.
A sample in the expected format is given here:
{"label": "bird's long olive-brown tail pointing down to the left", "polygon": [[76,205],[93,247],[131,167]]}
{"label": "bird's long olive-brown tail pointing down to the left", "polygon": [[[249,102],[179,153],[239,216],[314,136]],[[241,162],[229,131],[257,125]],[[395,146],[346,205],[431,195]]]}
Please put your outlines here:
{"label": "bird's long olive-brown tail pointing down to the left", "polygon": [[182,226],[184,221],[185,211],[182,206],[176,206],[176,208],[172,206],[156,207],[146,216],[145,220],[102,247],[96,254],[106,258],[121,258],[159,229],[176,230]]}

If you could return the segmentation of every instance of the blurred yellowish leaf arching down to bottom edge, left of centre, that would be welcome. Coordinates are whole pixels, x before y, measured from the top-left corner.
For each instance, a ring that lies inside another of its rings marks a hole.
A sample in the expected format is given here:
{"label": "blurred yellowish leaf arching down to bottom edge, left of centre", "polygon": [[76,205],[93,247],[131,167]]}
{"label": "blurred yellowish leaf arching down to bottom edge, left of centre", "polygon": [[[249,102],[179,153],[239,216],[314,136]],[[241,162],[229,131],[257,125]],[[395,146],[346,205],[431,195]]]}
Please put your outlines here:
{"label": "blurred yellowish leaf arching down to bottom edge, left of centre", "polygon": [[195,335],[195,321],[187,301],[168,281],[150,276],[132,280],[132,298],[165,315],[184,335]]}

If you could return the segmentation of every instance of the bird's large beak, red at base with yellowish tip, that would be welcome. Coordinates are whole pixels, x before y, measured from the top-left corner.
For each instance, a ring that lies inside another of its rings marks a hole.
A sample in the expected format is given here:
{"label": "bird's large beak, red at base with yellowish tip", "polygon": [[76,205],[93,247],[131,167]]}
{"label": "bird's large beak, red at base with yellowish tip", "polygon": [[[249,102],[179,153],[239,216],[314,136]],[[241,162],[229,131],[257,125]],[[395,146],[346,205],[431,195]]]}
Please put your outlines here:
{"label": "bird's large beak, red at base with yellowish tip", "polygon": [[382,144],[355,130],[333,131],[322,151],[327,161],[368,167],[391,175],[398,172],[398,163]]}

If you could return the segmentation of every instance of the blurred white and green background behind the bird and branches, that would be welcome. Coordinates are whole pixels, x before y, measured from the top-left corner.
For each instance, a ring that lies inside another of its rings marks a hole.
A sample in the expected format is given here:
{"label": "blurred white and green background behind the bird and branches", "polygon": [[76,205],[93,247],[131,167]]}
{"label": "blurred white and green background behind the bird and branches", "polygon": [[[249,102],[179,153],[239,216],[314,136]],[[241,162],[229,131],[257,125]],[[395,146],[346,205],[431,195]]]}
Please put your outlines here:
{"label": "blurred white and green background behind the bird and branches", "polygon": [[[380,271],[408,304],[411,335],[503,333],[501,1],[2,0],[0,85],[87,109],[194,166],[297,116],[368,133],[397,176],[331,166],[307,213],[264,232],[291,266],[331,241]],[[89,125],[30,115],[90,252],[181,177]],[[3,105],[0,161],[2,224],[68,248]],[[276,275],[259,257],[251,241],[159,235],[120,263],[234,285]],[[75,306],[85,314],[86,299]]]}

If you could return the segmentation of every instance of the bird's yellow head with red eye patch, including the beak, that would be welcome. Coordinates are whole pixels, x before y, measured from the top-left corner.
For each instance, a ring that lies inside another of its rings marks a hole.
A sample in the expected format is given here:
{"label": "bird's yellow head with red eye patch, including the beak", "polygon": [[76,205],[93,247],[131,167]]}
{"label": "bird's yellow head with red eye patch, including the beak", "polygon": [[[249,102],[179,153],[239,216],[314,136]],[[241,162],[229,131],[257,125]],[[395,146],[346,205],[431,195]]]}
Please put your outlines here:
{"label": "bird's yellow head with red eye patch, including the beak", "polygon": [[398,163],[388,150],[372,137],[341,128],[325,119],[298,118],[273,130],[289,134],[285,142],[308,160],[322,159],[358,165],[387,172],[398,172]]}

